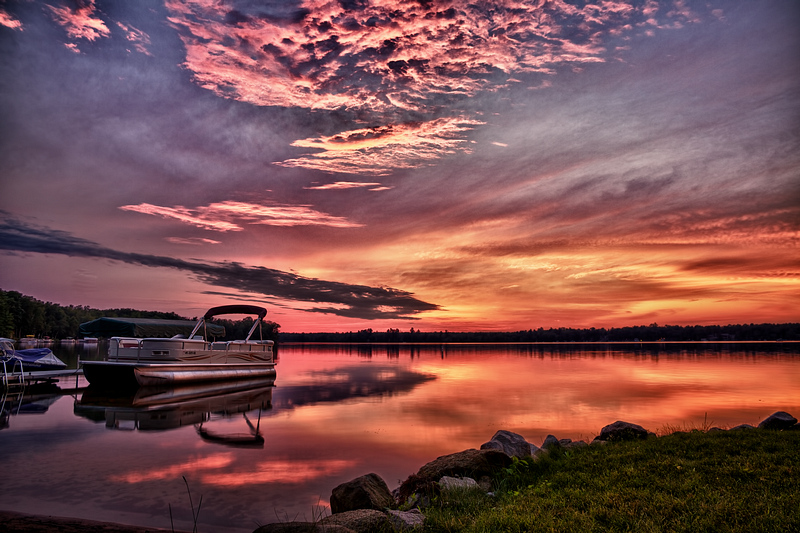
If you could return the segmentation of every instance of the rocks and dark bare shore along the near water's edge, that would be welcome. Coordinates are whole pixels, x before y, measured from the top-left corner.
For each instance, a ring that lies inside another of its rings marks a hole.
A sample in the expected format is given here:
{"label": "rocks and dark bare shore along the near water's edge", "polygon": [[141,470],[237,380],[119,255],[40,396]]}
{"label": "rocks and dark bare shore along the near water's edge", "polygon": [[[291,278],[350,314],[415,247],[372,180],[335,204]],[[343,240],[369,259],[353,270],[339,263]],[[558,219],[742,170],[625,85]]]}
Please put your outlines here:
{"label": "rocks and dark bare shore along the near water's edge", "polygon": [[[730,429],[708,431],[748,431],[758,429],[798,431],[797,419],[784,411],[773,413],[758,426],[742,424]],[[316,522],[278,522],[259,527],[254,533],[370,533],[374,531],[413,531],[424,525],[420,511],[431,498],[443,491],[476,488],[492,489],[492,477],[515,459],[537,458],[557,448],[597,446],[608,442],[657,438],[638,424],[616,421],[602,428],[591,443],[558,439],[548,435],[541,447],[524,437],[500,430],[480,449],[443,455],[423,465],[399,488],[390,491],[380,476],[369,473],[342,483],[331,493],[331,515]],[[169,530],[125,526],[91,520],[32,516],[0,511],[0,533],[163,533]],[[180,532],[175,532],[180,533]]]}

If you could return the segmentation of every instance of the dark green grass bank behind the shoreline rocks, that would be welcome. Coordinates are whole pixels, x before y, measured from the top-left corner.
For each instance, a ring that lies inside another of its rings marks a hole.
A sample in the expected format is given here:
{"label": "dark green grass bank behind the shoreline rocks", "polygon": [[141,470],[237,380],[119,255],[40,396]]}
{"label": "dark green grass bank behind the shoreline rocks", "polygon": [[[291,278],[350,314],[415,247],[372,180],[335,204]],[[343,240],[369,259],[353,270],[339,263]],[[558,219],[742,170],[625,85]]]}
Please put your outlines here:
{"label": "dark green grass bank behind the shoreline rocks", "polygon": [[800,431],[693,431],[520,461],[443,494],[431,532],[800,531]]}

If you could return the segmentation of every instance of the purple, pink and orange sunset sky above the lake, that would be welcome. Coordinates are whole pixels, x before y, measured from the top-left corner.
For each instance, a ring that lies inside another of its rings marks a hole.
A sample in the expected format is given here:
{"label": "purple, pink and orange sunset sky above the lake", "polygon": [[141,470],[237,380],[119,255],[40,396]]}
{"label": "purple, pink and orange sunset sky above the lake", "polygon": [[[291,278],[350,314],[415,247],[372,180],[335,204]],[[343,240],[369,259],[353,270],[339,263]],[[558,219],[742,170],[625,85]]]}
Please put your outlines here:
{"label": "purple, pink and orange sunset sky above the lake", "polygon": [[282,331],[800,321],[800,3],[0,1],[0,289]]}

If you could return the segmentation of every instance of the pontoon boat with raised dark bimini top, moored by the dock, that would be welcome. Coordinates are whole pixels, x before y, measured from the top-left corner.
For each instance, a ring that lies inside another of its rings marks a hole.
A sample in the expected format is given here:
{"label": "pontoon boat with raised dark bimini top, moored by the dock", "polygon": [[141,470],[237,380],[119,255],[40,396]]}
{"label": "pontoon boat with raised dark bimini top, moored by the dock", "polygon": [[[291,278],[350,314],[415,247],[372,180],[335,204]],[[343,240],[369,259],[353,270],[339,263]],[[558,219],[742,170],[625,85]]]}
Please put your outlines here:
{"label": "pontoon boat with raised dark bimini top, moored by the dock", "polygon": [[[257,318],[243,340],[208,340],[206,321],[228,314]],[[274,342],[251,339],[266,314],[254,305],[223,305],[209,309],[188,337],[111,337],[107,359],[82,361],[83,373],[91,385],[116,389],[274,378]]]}

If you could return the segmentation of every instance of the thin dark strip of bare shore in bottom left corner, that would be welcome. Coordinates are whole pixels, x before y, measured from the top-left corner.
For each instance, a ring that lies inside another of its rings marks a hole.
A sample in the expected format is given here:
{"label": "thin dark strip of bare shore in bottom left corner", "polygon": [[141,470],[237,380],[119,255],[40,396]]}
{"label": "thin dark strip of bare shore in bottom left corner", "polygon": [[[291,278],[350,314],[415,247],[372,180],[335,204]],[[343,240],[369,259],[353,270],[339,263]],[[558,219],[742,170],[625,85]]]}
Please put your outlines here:
{"label": "thin dark strip of bare shore in bottom left corner", "polygon": [[[0,533],[172,533],[169,529],[126,526],[80,518],[0,511]],[[175,533],[185,533],[178,532]]]}

